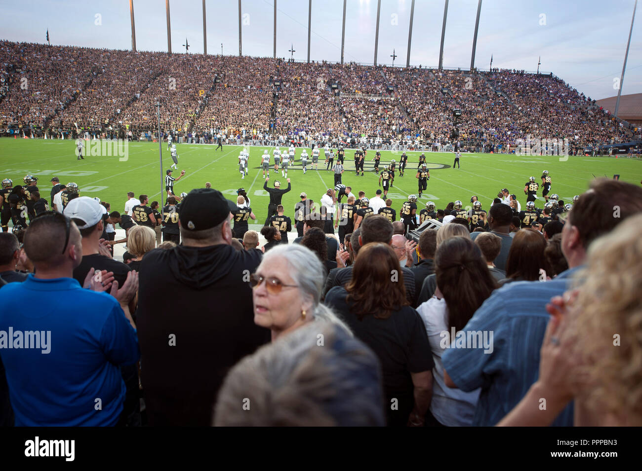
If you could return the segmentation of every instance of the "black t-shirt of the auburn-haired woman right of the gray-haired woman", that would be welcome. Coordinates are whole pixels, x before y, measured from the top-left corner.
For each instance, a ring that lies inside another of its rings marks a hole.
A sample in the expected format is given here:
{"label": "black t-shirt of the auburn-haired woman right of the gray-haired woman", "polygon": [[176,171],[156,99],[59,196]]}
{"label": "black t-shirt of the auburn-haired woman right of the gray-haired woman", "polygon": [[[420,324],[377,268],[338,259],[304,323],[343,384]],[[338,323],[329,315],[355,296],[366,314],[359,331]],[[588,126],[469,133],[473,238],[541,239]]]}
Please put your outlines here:
{"label": "black t-shirt of the auburn-haired woman right of the gray-haired woman", "polygon": [[[346,300],[345,288],[335,286],[325,295],[324,304],[340,314],[354,336],[372,349],[381,361],[385,408],[388,425],[404,424],[413,408],[414,386],[410,373],[431,371],[435,367],[419,313],[410,306],[396,310],[386,319],[365,315],[359,320]],[[399,409],[390,411],[390,400],[399,400]]]}

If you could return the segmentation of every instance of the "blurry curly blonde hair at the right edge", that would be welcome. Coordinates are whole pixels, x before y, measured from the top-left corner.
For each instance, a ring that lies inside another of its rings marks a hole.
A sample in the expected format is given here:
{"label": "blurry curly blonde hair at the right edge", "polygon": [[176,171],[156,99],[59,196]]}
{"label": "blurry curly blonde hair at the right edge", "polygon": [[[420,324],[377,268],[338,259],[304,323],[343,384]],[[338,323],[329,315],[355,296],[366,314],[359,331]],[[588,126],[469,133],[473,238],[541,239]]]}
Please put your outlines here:
{"label": "blurry curly blonde hair at the right edge", "polygon": [[642,425],[641,227],[642,215],[630,217],[591,244],[573,308],[578,399],[626,426]]}

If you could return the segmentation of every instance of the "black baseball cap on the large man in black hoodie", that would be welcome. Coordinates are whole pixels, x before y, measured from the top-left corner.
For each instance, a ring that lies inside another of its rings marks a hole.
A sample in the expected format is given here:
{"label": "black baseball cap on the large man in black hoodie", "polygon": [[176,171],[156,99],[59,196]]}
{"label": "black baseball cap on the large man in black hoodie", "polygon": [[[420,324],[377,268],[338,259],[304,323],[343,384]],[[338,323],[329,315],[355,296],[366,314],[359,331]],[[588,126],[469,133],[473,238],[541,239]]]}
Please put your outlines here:
{"label": "black baseball cap on the large man in black hoodie", "polygon": [[238,208],[214,188],[191,190],[180,203],[180,226],[187,231],[204,231],[218,226]]}

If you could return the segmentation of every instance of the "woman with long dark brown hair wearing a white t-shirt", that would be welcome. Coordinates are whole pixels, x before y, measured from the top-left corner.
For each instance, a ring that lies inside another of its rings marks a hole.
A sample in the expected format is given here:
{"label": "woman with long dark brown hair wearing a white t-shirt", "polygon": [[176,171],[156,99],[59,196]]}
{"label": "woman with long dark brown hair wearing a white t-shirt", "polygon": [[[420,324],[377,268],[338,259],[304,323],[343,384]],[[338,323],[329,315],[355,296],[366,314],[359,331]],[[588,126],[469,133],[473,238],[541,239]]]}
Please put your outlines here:
{"label": "woman with long dark brown hair wearing a white t-shirt", "polygon": [[435,361],[433,397],[426,424],[470,426],[480,389],[464,392],[446,386],[441,358],[455,342],[452,334],[464,328],[497,285],[479,247],[468,237],[449,238],[439,245],[435,254],[435,274],[439,292],[417,308],[426,325]]}

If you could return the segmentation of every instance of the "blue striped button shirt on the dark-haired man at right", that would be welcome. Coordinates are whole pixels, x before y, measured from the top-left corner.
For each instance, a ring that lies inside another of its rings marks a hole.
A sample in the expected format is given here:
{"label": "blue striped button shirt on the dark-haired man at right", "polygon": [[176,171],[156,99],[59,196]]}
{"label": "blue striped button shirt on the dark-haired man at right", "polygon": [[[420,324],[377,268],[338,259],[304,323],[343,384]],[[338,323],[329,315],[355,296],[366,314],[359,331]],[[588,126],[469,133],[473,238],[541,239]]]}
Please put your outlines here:
{"label": "blue striped button shirt on the dark-haired man at right", "polygon": [[[467,338],[472,331],[487,333],[489,340],[492,333],[492,351],[446,349],[442,361],[453,383],[465,392],[482,388],[473,426],[496,425],[537,381],[539,351],[550,319],[546,303],[562,295],[580,269],[566,270],[551,281],[514,281],[492,293],[462,331]],[[551,425],[572,427],[573,404]]]}

